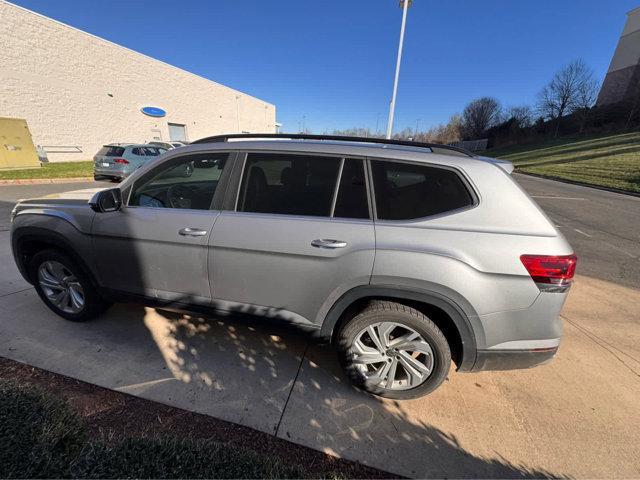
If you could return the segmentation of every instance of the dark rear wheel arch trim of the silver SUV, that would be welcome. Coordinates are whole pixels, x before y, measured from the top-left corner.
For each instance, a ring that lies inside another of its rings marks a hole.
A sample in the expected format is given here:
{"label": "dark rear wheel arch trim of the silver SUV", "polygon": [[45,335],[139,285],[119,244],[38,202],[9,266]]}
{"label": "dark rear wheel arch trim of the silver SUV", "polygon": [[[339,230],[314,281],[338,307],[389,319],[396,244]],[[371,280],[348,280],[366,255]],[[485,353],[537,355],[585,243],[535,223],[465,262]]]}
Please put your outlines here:
{"label": "dark rear wheel arch trim of the silver SUV", "polygon": [[[365,285],[343,294],[329,309],[320,329],[320,336],[333,342],[342,324],[353,318],[372,300],[402,303],[429,316],[443,330],[447,341],[456,350],[458,370],[471,370],[477,354],[476,335],[470,317],[477,318],[471,306],[463,309],[449,297],[433,291],[410,290],[395,286]],[[457,345],[456,345],[457,343]]]}

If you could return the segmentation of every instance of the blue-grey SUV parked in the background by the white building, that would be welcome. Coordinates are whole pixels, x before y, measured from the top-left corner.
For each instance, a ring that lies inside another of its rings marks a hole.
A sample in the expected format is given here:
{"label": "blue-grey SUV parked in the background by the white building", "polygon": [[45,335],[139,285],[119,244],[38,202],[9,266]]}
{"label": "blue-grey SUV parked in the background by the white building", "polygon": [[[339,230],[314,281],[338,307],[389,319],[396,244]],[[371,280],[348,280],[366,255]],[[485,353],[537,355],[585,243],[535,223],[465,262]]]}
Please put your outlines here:
{"label": "blue-grey SUV parked in the background by the white building", "polygon": [[156,145],[110,143],[93,157],[93,178],[120,182],[166,151],[166,148]]}

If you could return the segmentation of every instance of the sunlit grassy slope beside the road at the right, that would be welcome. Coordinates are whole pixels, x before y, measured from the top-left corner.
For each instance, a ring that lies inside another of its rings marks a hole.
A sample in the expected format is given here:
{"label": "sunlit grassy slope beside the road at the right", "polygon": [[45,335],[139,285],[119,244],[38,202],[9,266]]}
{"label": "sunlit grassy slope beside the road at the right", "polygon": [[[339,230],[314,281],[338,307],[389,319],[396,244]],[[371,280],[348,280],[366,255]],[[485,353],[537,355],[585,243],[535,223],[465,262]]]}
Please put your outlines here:
{"label": "sunlit grassy slope beside the road at the right", "polygon": [[640,193],[640,132],[487,150],[518,170]]}

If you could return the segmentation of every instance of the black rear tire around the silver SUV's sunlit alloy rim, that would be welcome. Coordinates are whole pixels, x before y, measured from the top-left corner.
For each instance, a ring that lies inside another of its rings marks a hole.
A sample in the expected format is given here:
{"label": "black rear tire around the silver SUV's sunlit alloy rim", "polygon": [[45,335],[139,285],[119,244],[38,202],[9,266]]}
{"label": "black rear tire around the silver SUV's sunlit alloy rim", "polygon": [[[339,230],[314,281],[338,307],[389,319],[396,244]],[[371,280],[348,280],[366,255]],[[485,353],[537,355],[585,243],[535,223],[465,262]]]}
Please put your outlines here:
{"label": "black rear tire around the silver SUV's sunlit alloy rim", "polygon": [[[372,385],[365,380],[353,363],[352,349],[358,334],[367,327],[381,322],[393,322],[409,327],[420,334],[431,347],[433,353],[431,371],[419,385],[404,390]],[[341,328],[336,340],[340,362],[350,380],[357,387],[381,397],[409,399],[427,395],[444,382],[451,367],[451,349],[442,331],[426,315],[400,303],[382,300],[371,302],[367,308]]]}

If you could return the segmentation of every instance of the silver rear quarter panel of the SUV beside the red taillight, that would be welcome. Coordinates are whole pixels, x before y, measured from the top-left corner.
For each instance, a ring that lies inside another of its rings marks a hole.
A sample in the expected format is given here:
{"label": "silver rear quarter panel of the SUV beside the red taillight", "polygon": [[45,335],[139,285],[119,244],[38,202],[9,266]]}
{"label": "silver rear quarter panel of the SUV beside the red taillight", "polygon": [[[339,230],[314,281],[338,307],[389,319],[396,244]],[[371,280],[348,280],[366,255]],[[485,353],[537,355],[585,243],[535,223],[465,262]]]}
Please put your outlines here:
{"label": "silver rear quarter panel of the SUV beside the red taillight", "polygon": [[567,255],[572,249],[502,169],[476,161],[468,162],[461,174],[476,191],[474,207],[412,221],[376,222],[371,283],[435,290],[460,306],[468,302],[471,315],[481,317],[470,321],[483,348],[495,343],[496,334],[489,325],[485,338],[484,316],[490,320],[492,314],[528,309],[540,295],[520,255]]}

